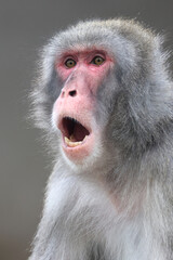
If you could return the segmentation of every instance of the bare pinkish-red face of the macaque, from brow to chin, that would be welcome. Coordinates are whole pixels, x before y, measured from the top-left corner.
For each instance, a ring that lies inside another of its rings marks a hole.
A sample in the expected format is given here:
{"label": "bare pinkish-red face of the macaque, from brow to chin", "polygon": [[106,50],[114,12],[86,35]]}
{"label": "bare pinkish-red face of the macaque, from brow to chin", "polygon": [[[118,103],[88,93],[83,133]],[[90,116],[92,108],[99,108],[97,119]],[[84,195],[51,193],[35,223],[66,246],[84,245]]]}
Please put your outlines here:
{"label": "bare pinkish-red face of the macaque, from brow to chin", "polygon": [[53,120],[62,132],[62,146],[70,160],[94,152],[101,130],[94,119],[96,93],[114,61],[103,50],[65,53],[56,62],[64,87],[53,108]]}

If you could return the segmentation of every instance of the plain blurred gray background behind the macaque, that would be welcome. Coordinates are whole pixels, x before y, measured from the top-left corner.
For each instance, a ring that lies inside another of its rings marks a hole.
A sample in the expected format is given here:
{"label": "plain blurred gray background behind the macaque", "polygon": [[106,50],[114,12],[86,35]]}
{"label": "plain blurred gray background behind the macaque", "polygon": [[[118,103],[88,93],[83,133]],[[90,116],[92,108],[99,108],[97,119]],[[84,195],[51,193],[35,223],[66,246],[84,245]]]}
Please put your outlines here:
{"label": "plain blurred gray background behind the macaque", "polygon": [[26,120],[39,47],[79,20],[115,16],[143,21],[173,50],[172,0],[0,0],[0,260],[27,259],[51,171]]}

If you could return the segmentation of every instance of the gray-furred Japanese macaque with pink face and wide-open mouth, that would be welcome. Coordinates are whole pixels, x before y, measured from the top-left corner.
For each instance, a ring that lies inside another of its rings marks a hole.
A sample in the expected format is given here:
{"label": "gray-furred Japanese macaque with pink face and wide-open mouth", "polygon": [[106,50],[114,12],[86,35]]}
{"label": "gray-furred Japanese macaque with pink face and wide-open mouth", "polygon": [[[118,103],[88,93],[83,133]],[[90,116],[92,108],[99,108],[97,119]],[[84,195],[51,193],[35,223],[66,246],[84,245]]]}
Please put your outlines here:
{"label": "gray-furred Japanese macaque with pink face and wide-open mouth", "polygon": [[32,114],[55,166],[29,260],[173,259],[173,82],[134,21],[80,22],[43,48]]}

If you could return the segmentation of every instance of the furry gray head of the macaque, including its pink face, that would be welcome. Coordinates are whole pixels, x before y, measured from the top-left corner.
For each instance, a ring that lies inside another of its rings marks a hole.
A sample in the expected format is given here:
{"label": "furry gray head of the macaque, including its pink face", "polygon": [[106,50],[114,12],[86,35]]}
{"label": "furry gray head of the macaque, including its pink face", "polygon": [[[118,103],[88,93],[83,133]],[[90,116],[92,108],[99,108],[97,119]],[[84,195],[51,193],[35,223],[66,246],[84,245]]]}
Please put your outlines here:
{"label": "furry gray head of the macaque, including its pink face", "polygon": [[148,145],[158,46],[150,31],[118,20],[79,23],[44,47],[34,105],[67,160],[81,165]]}

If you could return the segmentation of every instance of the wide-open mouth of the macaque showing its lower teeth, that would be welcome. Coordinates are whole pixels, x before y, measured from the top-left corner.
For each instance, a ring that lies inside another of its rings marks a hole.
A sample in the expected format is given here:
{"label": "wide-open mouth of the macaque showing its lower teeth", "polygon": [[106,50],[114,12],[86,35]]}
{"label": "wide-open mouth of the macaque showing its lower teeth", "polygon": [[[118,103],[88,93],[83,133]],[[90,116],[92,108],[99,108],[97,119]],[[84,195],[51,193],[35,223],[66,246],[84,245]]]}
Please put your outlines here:
{"label": "wide-open mouth of the macaque showing its lower teeth", "polygon": [[88,135],[90,135],[89,130],[78,120],[71,117],[63,118],[62,128],[65,144],[69,147],[81,145]]}

